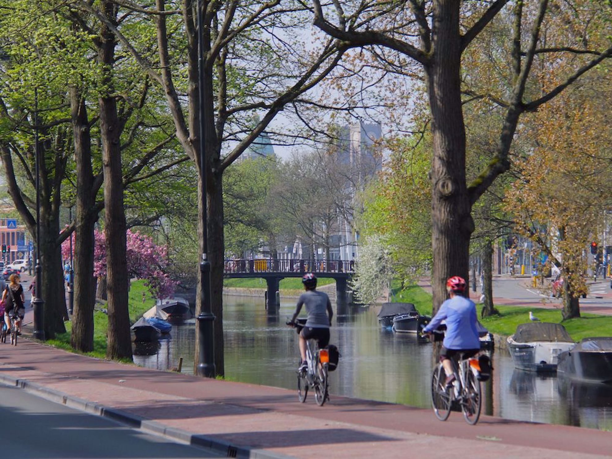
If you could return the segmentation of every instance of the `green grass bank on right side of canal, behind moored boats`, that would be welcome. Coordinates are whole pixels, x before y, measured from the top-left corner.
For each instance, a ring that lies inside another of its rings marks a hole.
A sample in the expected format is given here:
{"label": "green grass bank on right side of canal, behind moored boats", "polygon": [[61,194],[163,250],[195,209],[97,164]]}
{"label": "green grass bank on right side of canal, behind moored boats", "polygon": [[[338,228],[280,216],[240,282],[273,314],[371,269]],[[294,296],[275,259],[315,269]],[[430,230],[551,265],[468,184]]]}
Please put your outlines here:
{"label": "green grass bank on right side of canal, behind moored boats", "polygon": [[[392,285],[392,298],[397,302],[413,303],[422,314],[431,313],[431,294],[416,285],[400,289]],[[494,335],[510,336],[519,324],[529,322],[529,311],[542,322],[561,323],[570,336],[580,341],[582,338],[595,336],[612,336],[612,316],[582,314],[578,319],[564,321],[561,309],[526,308],[520,306],[496,305],[499,315],[483,318],[480,322]],[[482,304],[476,305],[480,314]]]}

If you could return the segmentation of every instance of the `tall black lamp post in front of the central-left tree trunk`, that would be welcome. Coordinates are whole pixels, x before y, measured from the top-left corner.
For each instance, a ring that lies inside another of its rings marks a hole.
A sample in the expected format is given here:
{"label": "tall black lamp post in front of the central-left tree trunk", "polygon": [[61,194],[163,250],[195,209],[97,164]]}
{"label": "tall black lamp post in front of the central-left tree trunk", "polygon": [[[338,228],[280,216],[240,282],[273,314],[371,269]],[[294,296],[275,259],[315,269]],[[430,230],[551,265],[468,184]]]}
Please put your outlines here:
{"label": "tall black lamp post in front of the central-left tree trunk", "polygon": [[211,262],[208,261],[208,231],[206,216],[206,147],[204,146],[204,28],[202,18],[202,2],[197,1],[198,23],[198,114],[200,116],[200,179],[201,179],[201,207],[202,207],[202,237],[203,250],[200,261],[200,314],[198,314],[198,365],[196,373],[206,378],[215,377],[215,353],[213,340],[213,321],[211,307]]}

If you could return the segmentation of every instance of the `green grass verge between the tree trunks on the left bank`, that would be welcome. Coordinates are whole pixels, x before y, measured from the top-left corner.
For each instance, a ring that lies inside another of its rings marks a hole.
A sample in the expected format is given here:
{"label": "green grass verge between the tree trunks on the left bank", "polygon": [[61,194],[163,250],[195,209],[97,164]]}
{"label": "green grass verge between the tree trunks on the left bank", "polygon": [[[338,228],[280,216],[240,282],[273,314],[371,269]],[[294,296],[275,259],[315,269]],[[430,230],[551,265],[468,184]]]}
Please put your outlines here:
{"label": "green grass verge between the tree trunks on the left bank", "polygon": [[[143,293],[146,299],[143,303]],[[130,284],[128,294],[128,307],[130,321],[135,322],[143,313],[155,305],[155,299],[149,298],[149,290],[144,286],[143,280],[136,280]],[[66,332],[56,335],[54,340],[47,340],[47,344],[66,351],[75,352],[70,346],[70,331],[72,324],[65,323]],[[101,312],[94,312],[94,350],[85,353],[87,356],[104,359],[106,357],[106,331],[108,330],[108,316]]]}

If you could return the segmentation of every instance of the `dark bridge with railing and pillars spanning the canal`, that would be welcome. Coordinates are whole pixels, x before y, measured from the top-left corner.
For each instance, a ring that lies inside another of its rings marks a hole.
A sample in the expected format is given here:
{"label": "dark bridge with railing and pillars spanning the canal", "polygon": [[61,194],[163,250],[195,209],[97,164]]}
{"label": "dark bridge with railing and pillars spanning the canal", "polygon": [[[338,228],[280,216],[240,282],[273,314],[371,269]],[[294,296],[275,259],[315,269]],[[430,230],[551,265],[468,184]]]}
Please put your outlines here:
{"label": "dark bridge with railing and pillars spanning the canal", "polygon": [[343,308],[348,303],[347,282],[354,274],[353,261],[315,259],[232,259],[225,261],[223,276],[261,277],[266,279],[268,308],[278,306],[276,293],[280,280],[302,277],[313,272],[316,277],[331,277],[336,281],[336,303]]}

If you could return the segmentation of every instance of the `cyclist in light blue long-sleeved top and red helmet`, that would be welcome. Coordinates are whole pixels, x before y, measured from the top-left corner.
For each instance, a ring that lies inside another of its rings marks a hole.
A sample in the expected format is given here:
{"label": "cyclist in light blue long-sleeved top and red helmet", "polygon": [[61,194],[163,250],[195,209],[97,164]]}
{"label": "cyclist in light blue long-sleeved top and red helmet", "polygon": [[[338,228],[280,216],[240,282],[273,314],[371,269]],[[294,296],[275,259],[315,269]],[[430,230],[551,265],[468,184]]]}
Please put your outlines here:
{"label": "cyclist in light blue long-sleeved top and red helmet", "polygon": [[447,299],[440,306],[438,313],[423,329],[425,334],[431,334],[439,324],[446,320],[446,333],[442,341],[440,360],[446,373],[446,384],[455,380],[453,365],[450,359],[463,352],[466,357],[474,356],[480,351],[480,340],[476,328],[476,305],[464,297],[466,282],[459,276],[450,277],[446,282]]}

